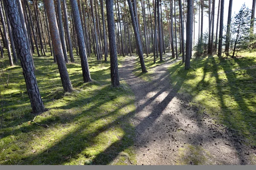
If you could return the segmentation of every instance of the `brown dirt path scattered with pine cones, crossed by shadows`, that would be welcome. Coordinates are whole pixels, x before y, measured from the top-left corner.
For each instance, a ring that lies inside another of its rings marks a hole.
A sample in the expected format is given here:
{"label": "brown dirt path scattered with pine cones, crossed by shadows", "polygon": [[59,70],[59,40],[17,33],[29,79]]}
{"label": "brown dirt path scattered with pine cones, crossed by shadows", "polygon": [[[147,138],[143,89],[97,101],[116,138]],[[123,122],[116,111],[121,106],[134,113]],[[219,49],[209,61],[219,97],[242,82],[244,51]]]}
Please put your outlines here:
{"label": "brown dirt path scattered with pine cones, crossed by shadows", "polygon": [[173,88],[167,71],[172,62],[154,68],[153,80],[146,82],[133,74],[135,59],[128,57],[119,73],[136,97],[137,164],[255,164],[256,150],[243,144],[243,136],[207,113],[199,115],[177,94],[180,87]]}

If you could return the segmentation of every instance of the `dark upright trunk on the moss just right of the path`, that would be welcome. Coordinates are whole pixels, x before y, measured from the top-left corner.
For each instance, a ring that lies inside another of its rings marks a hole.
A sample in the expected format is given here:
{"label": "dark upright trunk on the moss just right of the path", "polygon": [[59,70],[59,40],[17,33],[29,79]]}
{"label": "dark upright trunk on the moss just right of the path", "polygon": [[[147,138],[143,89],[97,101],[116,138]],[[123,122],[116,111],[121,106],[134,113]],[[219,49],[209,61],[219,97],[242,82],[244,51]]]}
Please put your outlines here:
{"label": "dark upright trunk on the moss just right of the path", "polygon": [[190,68],[190,58],[192,56],[192,22],[193,22],[193,0],[187,2],[187,21],[186,21],[186,60],[185,69]]}

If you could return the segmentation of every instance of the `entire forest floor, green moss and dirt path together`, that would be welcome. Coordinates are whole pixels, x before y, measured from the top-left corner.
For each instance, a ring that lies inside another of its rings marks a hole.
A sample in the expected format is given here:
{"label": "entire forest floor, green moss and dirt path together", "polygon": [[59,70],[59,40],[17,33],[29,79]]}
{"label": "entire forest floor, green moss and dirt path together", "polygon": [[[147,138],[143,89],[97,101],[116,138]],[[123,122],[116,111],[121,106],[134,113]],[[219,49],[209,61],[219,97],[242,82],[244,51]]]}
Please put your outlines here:
{"label": "entire forest floor, green moss and dirt path together", "polygon": [[119,56],[119,88],[111,87],[110,62],[93,56],[93,82],[84,83],[75,55],[67,63],[72,93],[63,92],[49,52],[34,55],[49,109],[39,115],[20,64],[5,57],[0,164],[256,164],[255,54],[192,59],[189,70],[169,53],[156,64],[149,55],[146,74],[137,57]]}

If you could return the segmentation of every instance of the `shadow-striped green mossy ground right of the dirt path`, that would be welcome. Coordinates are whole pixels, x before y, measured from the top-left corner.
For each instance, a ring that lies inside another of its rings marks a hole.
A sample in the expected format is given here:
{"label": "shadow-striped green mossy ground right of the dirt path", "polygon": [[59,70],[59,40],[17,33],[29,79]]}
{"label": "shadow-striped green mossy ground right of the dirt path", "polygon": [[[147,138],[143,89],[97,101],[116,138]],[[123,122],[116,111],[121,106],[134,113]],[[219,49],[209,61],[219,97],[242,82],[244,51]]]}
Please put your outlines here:
{"label": "shadow-striped green mossy ground right of the dirt path", "polygon": [[[201,108],[200,113],[205,111],[256,145],[255,56],[256,52],[241,52],[234,59],[192,59],[189,70],[180,60],[168,69],[170,83],[177,93],[183,93],[191,104]],[[153,58],[145,62],[153,65]]]}

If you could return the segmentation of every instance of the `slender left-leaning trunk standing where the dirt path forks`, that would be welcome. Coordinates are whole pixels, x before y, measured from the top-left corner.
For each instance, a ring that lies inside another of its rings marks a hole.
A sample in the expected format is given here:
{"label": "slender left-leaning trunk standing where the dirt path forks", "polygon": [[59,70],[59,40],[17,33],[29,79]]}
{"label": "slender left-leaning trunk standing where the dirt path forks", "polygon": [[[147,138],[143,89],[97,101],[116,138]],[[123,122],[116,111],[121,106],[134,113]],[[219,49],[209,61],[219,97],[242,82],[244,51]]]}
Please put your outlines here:
{"label": "slender left-leaning trunk standing where the dirt path forks", "polygon": [[140,33],[139,33],[139,30],[137,29],[137,16],[136,16],[136,19],[134,17],[134,10],[137,11],[136,9],[133,9],[133,6],[131,4],[131,0],[127,0],[128,1],[128,5],[129,5],[129,11],[130,11],[130,14],[131,14],[131,21],[132,21],[132,25],[133,25],[133,28],[134,28],[134,35],[135,35],[135,39],[136,39],[136,42],[137,42],[137,48],[138,48],[138,54],[139,54],[139,58],[140,58],[140,65],[141,65],[141,70],[142,72],[148,72],[146,70],[146,67],[145,67],[145,63],[144,63],[144,57],[143,57],[143,50],[142,50],[142,43],[141,43],[141,39],[140,39]]}

